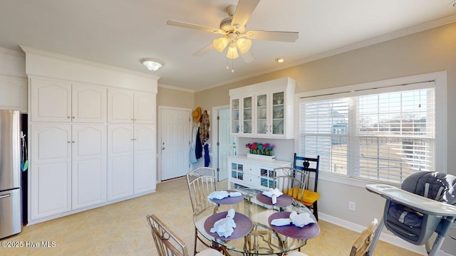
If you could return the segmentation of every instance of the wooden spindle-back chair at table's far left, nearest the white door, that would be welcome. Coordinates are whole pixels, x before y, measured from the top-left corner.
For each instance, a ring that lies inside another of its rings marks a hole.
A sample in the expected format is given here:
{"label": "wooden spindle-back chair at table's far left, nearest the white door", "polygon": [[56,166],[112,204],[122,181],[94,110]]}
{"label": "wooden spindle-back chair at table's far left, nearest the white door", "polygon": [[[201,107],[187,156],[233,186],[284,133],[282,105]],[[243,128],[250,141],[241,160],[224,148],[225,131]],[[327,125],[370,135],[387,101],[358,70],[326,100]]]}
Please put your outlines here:
{"label": "wooden spindle-back chair at table's far left, nearest the white door", "polygon": [[[202,211],[209,208],[214,208],[213,212],[217,210],[217,205],[207,200],[209,193],[217,191],[216,183],[217,177],[215,176],[215,169],[210,167],[200,167],[187,174],[187,184],[190,193],[190,201],[192,203],[193,215],[202,213]],[[207,215],[207,217],[209,217],[209,215]],[[204,220],[206,219],[207,218],[201,218],[197,223],[195,223],[195,253],[197,252],[197,240],[202,242],[207,247],[211,247],[211,245],[209,245],[210,241],[207,240],[207,238],[210,238],[210,235],[200,235],[198,233],[198,230],[202,230],[202,232],[204,232],[204,228],[202,227],[204,226]],[[199,227],[198,230],[196,226]]]}

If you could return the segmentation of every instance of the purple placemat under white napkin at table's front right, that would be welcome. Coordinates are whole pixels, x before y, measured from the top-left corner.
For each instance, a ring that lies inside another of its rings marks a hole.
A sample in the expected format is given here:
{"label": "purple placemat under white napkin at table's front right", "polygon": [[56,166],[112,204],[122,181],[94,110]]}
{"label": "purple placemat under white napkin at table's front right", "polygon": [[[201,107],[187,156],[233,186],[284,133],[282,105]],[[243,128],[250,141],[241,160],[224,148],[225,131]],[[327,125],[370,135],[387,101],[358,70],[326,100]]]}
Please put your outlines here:
{"label": "purple placemat under white napkin at table's front right", "polygon": [[320,227],[318,227],[317,223],[311,223],[305,225],[302,228],[297,227],[296,225],[284,225],[284,226],[275,226],[271,225],[271,221],[277,218],[289,218],[290,212],[278,212],[272,213],[268,218],[269,227],[272,230],[276,231],[276,233],[286,235],[289,238],[296,238],[296,239],[311,239],[315,238],[320,233]]}

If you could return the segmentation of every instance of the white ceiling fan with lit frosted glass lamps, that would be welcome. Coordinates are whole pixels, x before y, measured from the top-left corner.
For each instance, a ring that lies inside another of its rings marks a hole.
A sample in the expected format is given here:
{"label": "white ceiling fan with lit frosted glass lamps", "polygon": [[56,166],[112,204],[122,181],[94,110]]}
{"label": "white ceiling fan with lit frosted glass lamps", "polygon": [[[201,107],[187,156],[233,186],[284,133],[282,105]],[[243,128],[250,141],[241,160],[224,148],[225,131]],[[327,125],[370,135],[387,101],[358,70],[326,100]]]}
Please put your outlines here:
{"label": "white ceiling fan with lit frosted glass lamps", "polygon": [[237,6],[228,6],[227,13],[229,17],[220,21],[219,28],[211,28],[197,24],[182,22],[182,21],[167,21],[167,25],[180,26],[184,28],[194,28],[210,33],[222,35],[220,38],[214,39],[208,46],[198,50],[193,55],[201,56],[215,48],[219,53],[222,53],[228,46],[227,58],[234,59],[239,57],[237,50],[242,53],[242,57],[246,62],[254,60],[254,56],[250,53],[252,41],[250,39],[259,39],[266,41],[283,41],[294,42],[298,39],[298,32],[287,31],[247,31],[246,23],[249,21],[250,15],[257,7],[260,0],[239,0]]}

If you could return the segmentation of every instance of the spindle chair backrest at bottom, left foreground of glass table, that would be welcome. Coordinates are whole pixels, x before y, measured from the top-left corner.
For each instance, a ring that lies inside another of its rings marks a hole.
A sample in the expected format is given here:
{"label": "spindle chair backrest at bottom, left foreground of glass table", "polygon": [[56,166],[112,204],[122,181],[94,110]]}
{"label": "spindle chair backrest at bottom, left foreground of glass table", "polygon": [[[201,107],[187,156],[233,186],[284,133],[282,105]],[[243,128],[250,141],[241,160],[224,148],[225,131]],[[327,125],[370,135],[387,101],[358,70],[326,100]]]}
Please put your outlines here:
{"label": "spindle chair backrest at bottom, left foreground of glass table", "polygon": [[155,215],[147,215],[158,256],[188,256],[187,245]]}

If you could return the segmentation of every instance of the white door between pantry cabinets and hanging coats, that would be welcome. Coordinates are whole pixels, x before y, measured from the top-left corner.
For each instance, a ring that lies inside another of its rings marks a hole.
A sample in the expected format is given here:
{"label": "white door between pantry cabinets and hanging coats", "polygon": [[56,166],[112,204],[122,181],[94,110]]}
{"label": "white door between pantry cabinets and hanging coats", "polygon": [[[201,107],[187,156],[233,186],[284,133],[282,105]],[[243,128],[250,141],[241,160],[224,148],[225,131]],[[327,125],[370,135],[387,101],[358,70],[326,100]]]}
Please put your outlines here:
{"label": "white door between pantry cabinets and hanging coats", "polygon": [[161,180],[185,176],[190,171],[191,110],[160,108]]}

